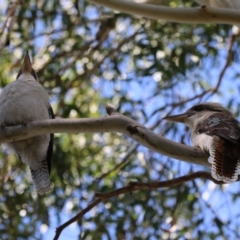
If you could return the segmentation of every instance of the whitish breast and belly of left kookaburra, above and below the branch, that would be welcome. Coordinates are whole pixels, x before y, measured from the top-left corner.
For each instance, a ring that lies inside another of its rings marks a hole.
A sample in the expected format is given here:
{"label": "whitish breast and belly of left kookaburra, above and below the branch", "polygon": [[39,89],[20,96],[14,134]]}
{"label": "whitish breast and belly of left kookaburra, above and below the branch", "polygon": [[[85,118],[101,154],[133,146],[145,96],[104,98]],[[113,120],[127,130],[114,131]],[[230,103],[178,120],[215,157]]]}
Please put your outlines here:
{"label": "whitish breast and belly of left kookaburra, above and below the branch", "polygon": [[[49,119],[48,95],[34,79],[21,79],[7,85],[0,95],[0,125],[14,126]],[[21,160],[32,170],[41,167],[46,157],[50,134],[10,142]]]}

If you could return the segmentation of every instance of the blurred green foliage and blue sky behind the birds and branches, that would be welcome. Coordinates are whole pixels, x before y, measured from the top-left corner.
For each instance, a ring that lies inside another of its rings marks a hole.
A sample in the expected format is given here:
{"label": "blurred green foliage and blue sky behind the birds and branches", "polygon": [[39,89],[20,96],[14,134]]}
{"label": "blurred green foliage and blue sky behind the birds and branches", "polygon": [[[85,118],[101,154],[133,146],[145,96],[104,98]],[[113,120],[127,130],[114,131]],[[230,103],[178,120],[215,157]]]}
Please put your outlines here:
{"label": "blurred green foliage and blue sky behind the birds and branches", "polygon": [[[152,3],[199,6],[190,0]],[[191,144],[187,128],[162,117],[214,101],[239,119],[239,45],[239,29],[232,25],[153,21],[82,0],[0,3],[1,89],[15,80],[29,50],[57,117],[105,116],[109,104],[184,144]],[[38,196],[27,166],[3,145],[0,238],[52,239],[96,191],[197,170],[206,169],[121,134],[55,134],[52,191]],[[218,186],[198,179],[121,195],[88,212],[60,239],[240,239],[239,188],[239,182]]]}

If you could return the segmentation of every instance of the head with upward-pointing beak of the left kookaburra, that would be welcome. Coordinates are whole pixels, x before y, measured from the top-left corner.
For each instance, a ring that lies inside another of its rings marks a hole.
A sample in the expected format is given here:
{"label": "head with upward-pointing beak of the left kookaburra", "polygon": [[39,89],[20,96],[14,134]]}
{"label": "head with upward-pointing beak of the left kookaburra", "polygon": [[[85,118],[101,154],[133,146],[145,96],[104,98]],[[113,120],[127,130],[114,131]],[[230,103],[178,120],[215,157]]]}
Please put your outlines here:
{"label": "head with upward-pointing beak of the left kookaburra", "polygon": [[24,60],[23,60],[23,65],[20,71],[18,72],[17,75],[17,80],[21,78],[33,78],[37,82],[39,82],[39,79],[37,77],[37,74],[35,71],[32,69],[32,63],[28,54],[28,51],[25,54]]}

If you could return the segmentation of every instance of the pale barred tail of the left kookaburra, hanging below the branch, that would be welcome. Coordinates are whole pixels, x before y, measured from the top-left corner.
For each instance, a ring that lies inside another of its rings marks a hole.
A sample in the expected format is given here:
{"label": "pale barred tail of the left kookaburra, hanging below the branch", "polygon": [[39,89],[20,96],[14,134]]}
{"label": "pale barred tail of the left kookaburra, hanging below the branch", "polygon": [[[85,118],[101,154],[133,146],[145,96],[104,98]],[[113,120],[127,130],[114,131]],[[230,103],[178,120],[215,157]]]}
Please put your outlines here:
{"label": "pale barred tail of the left kookaburra, hanging below the branch", "polygon": [[33,184],[38,194],[42,195],[48,192],[51,189],[51,182],[47,162],[42,161],[41,167],[39,169],[33,170],[32,168],[30,168],[30,170],[32,174]]}

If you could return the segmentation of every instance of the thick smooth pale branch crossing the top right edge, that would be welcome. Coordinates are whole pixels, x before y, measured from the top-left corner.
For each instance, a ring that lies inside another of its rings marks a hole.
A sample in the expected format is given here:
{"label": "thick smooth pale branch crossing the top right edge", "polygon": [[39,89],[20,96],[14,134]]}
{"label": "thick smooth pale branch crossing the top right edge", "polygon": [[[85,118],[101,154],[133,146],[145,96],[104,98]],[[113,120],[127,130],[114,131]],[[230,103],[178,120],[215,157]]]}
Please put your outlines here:
{"label": "thick smooth pale branch crossing the top right edge", "polygon": [[94,4],[150,19],[161,19],[177,23],[225,23],[240,24],[240,11],[226,8],[196,7],[170,8],[140,4],[126,0],[88,0]]}

